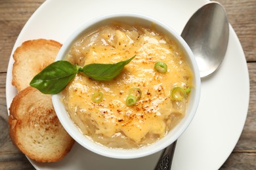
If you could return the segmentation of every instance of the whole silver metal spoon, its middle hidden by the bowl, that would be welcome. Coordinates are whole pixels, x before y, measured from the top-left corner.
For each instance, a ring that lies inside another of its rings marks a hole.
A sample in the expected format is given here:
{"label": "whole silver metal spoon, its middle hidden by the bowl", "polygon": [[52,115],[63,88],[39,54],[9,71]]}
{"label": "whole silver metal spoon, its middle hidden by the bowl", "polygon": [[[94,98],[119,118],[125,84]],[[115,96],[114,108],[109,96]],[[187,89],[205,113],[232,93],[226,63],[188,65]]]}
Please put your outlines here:
{"label": "whole silver metal spoon, its middle hidden by the bowl", "polygon": [[[188,20],[181,37],[190,46],[200,70],[200,77],[213,74],[226,54],[229,37],[228,17],[217,2],[203,5]],[[177,141],[161,154],[155,170],[171,169]]]}

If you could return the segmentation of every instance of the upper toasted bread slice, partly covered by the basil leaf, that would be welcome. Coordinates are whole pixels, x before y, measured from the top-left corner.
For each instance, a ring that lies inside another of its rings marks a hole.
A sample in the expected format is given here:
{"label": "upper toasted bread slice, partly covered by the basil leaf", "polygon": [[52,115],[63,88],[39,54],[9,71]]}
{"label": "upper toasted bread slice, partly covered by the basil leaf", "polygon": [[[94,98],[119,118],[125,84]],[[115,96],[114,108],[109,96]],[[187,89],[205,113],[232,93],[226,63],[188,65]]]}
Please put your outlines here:
{"label": "upper toasted bread slice, partly covered by the basil leaf", "polygon": [[53,63],[62,44],[53,40],[25,41],[16,48],[12,68],[12,85],[18,92],[30,85],[33,76]]}

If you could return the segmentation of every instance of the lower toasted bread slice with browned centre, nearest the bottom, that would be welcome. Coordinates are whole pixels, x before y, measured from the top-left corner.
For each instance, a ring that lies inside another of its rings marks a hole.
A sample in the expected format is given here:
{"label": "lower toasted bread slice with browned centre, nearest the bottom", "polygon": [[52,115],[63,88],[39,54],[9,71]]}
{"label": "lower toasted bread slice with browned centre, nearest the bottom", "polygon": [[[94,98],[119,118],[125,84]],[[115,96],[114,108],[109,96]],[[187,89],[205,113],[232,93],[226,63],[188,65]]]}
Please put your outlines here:
{"label": "lower toasted bread slice with browned centre, nearest the bottom", "polygon": [[61,160],[74,145],[56,116],[51,95],[30,86],[14,97],[9,127],[13,143],[35,161]]}

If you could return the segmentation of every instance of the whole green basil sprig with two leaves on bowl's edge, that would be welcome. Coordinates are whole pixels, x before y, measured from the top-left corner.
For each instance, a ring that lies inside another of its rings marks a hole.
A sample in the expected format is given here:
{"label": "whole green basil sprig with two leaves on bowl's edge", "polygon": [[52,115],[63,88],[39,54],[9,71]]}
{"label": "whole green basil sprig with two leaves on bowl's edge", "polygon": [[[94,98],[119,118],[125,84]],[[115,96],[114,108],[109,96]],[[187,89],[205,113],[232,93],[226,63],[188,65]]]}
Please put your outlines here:
{"label": "whole green basil sprig with two leaves on bowl's edge", "polygon": [[114,64],[92,63],[83,68],[68,61],[55,61],[35,75],[30,86],[45,94],[60,93],[79,72],[94,80],[112,80],[135,56]]}

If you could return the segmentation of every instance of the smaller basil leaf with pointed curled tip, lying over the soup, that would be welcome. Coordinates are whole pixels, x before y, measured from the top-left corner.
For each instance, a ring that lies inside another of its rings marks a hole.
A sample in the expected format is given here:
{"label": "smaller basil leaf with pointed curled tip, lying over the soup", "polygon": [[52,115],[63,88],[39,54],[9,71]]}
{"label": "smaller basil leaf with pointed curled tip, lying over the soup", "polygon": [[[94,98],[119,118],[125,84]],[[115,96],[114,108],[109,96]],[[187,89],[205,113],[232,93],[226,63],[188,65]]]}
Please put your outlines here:
{"label": "smaller basil leaf with pointed curled tip, lying over the soup", "polygon": [[135,56],[114,64],[92,63],[83,67],[83,73],[95,80],[112,80]]}

